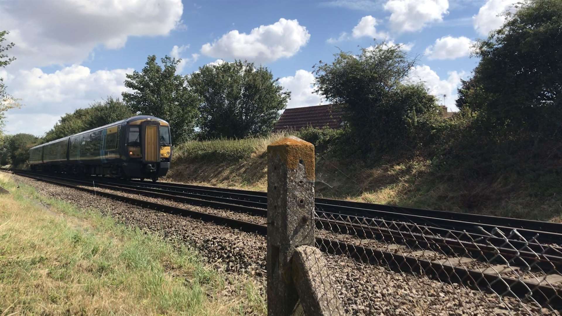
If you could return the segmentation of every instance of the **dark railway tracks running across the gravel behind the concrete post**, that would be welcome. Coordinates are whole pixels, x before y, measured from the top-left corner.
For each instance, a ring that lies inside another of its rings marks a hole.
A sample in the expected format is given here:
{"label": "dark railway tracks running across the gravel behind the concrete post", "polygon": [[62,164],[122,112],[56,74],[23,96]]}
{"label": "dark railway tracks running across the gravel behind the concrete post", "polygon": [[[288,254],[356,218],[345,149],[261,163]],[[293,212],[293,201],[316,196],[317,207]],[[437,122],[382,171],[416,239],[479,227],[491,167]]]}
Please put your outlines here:
{"label": "dark railway tracks running across the gravel behind the concrete post", "polygon": [[[101,177],[90,177],[86,180],[60,175],[38,174],[27,170],[11,170],[11,172],[114,198],[115,200],[153,210],[192,216],[262,235],[265,235],[267,232],[267,227],[263,224],[149,202],[140,198],[121,196],[115,193],[101,192],[84,186],[95,185],[97,188],[165,198],[167,200],[209,206],[217,209],[243,211],[248,214],[265,217],[267,197],[264,192],[189,186],[187,184],[140,181],[124,183],[119,180]],[[76,185],[69,182],[80,184]],[[397,213],[398,210],[404,210],[405,214]],[[333,211],[338,213],[333,213]],[[434,217],[439,214],[443,214],[443,218]],[[462,215],[460,216],[461,219],[480,217],[473,214],[460,215]],[[554,271],[554,274],[559,274],[562,267],[561,249],[558,246],[545,247],[543,240],[561,243],[562,238],[560,238],[560,233],[558,233],[562,231],[559,228],[561,227],[560,224],[512,219],[510,221],[502,221],[504,224],[504,226],[500,226],[502,229],[511,230],[515,228],[521,236],[528,238],[525,242],[507,239],[509,240],[510,247],[505,247],[506,237],[501,238],[493,236],[493,234],[486,234],[486,229],[490,229],[490,231],[493,231],[493,228],[497,229],[497,225],[491,224],[493,219],[496,219],[495,222],[497,223],[497,218],[483,216],[478,218],[477,222],[466,222],[465,220],[450,219],[452,217],[450,212],[443,211],[403,209],[393,206],[381,207],[357,202],[316,198],[316,225],[321,229],[329,227],[329,231],[332,233],[332,237],[328,234],[319,236],[316,240],[321,250],[332,254],[346,254],[355,260],[371,264],[380,265],[381,263],[386,263],[390,268],[404,272],[419,273],[421,270],[443,281],[479,286],[488,288],[488,290],[495,291],[496,293],[506,293],[520,298],[532,297],[537,303],[551,306],[551,308],[556,308],[554,306],[562,308],[562,286],[544,284],[540,280],[537,282],[536,278],[512,278],[502,276],[496,270],[468,269],[462,264],[455,264],[456,261],[459,263],[466,261],[463,258],[481,258],[484,261],[493,261],[493,258],[497,258],[499,255],[500,258],[503,258],[502,260],[507,260],[514,266],[519,265],[529,269],[538,268],[551,273]],[[392,219],[389,220],[388,218]],[[406,220],[409,222],[406,222]],[[417,220],[417,222],[414,222],[414,220]],[[385,224],[388,222],[393,223],[393,225]],[[427,225],[428,223],[432,225]],[[524,227],[525,223],[531,229],[519,228]],[[513,227],[506,224],[510,224]],[[471,231],[447,227],[471,228]],[[558,228],[558,232],[556,228]],[[537,229],[545,230],[538,231]],[[333,237],[336,236],[336,233],[353,237],[347,238],[347,241],[342,240],[346,238],[338,240],[338,238]],[[541,237],[542,234],[546,234],[547,237],[539,241],[537,234]],[[529,236],[531,237],[529,238]],[[529,239],[531,242],[528,241]],[[387,244],[387,247],[362,245],[364,240],[383,242]],[[512,244],[520,246],[520,248],[514,247]],[[409,249],[410,251],[396,251],[397,249]],[[439,252],[448,255],[450,258],[447,260],[420,258],[415,256],[416,252],[420,252],[416,251],[416,249],[422,249],[422,252]],[[475,260],[473,259],[473,261]],[[500,266],[501,264],[498,264],[497,268]],[[503,282],[497,282],[498,280]]]}

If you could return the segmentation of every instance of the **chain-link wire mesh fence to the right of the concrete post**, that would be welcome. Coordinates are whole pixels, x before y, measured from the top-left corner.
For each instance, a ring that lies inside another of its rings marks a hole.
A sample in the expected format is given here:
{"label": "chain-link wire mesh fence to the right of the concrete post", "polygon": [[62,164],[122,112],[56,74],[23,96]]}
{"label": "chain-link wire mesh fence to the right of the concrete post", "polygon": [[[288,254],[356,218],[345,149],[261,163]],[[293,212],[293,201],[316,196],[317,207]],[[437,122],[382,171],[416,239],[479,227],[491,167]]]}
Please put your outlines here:
{"label": "chain-link wire mesh fence to the right of the concrete post", "polygon": [[345,314],[560,315],[562,247],[540,234],[314,216],[316,247]]}

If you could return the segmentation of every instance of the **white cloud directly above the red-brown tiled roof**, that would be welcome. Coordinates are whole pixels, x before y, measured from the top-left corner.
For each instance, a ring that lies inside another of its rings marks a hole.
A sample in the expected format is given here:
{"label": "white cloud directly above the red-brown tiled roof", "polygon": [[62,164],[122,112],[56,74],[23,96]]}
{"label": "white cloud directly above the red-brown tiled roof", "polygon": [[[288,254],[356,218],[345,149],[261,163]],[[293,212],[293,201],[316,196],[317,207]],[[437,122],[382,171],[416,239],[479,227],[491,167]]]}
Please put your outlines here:
{"label": "white cloud directly above the red-brown tiled roof", "polygon": [[291,91],[291,100],[287,107],[302,107],[319,105],[322,97],[314,93],[314,75],[310,71],[297,70],[294,76],[286,76],[279,79],[285,89]]}

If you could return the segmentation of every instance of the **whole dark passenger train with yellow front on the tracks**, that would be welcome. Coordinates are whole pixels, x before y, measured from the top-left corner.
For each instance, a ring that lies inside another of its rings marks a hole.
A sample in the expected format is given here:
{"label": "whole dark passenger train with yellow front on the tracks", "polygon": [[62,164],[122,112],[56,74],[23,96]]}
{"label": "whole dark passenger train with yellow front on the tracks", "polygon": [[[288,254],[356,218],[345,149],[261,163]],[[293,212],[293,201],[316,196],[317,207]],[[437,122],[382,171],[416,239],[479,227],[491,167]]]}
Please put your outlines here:
{"label": "whole dark passenger train with yellow front on the tracks", "polygon": [[28,162],[34,171],[156,182],[170,169],[171,141],[169,123],[137,115],[32,147]]}

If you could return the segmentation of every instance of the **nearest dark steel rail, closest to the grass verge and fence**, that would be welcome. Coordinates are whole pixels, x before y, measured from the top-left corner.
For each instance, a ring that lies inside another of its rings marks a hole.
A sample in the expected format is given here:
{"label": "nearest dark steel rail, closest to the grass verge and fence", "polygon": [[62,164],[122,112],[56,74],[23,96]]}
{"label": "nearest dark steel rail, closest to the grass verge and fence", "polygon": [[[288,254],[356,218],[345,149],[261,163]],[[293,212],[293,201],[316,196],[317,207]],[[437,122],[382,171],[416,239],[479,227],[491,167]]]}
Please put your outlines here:
{"label": "nearest dark steel rail, closest to the grass verge and fence", "polygon": [[[241,231],[257,233],[262,236],[266,236],[267,234],[267,226],[262,224],[255,224],[195,210],[158,204],[155,202],[139,200],[137,198],[116,195],[105,191],[96,191],[95,189],[84,188],[74,184],[40,178],[40,176],[30,174],[24,174],[24,176],[60,186],[78,189],[94,195],[112,198],[128,204],[142,206],[147,209],[164,211],[165,213],[170,214],[190,216],[217,224],[225,224],[229,227],[240,229]],[[373,249],[371,247],[359,246],[343,241],[331,240],[329,238],[316,237],[316,243],[318,243],[320,250],[322,251],[330,254],[350,256],[352,259],[359,262],[377,265],[386,263],[389,268],[402,272],[416,273],[423,271],[428,277],[440,279],[444,282],[463,283],[470,287],[479,286],[483,288],[490,288],[496,293],[515,296],[521,299],[532,297],[539,304],[548,305],[552,309],[562,307],[562,288],[554,288],[542,284],[536,285],[533,282],[521,279],[498,276],[496,274],[484,273],[481,270],[467,269],[465,267],[455,265],[437,263],[436,261],[419,259],[413,256]],[[500,279],[502,282],[497,282]]]}

